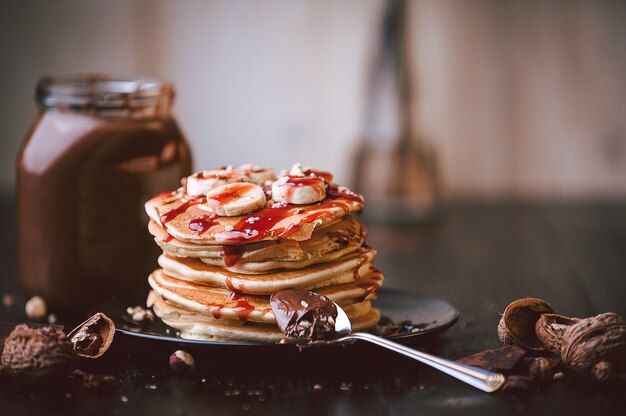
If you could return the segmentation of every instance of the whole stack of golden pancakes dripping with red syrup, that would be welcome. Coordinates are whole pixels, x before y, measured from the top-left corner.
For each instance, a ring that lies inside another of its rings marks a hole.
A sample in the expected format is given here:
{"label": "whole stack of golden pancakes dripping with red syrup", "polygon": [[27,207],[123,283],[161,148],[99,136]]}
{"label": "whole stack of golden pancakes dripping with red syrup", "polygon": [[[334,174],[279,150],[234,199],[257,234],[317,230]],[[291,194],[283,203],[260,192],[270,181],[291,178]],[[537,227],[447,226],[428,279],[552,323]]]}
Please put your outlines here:
{"label": "whole stack of golden pancakes dripping with red syrup", "polygon": [[362,197],[331,180],[325,198],[306,205],[276,203],[269,181],[263,189],[264,207],[231,217],[215,215],[206,196],[185,186],[146,203],[149,231],[163,249],[161,268],[148,278],[148,306],[183,338],[280,342],[270,296],[299,288],[339,304],[354,330],[376,325],[371,301],[383,274],[352,215]]}

